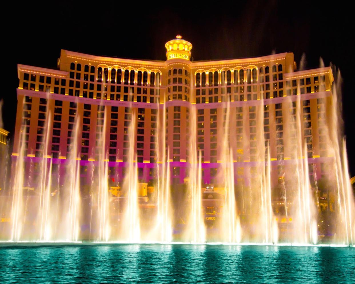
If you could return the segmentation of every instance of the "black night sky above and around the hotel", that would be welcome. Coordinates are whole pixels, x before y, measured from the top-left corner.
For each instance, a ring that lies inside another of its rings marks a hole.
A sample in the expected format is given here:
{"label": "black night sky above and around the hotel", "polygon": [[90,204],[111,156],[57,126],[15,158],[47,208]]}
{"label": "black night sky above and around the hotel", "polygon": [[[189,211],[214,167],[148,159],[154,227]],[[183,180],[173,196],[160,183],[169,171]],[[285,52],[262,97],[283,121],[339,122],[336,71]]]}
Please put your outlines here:
{"label": "black night sky above and around the hotel", "polygon": [[[74,3],[75,2],[75,3]],[[181,34],[194,60],[228,59],[292,51],[297,66],[332,62],[343,77],[343,119],[351,176],[355,175],[354,15],[335,1],[55,1],[12,2],[3,18],[5,129],[13,136],[17,64],[56,68],[61,49],[120,58],[165,60],[164,44]],[[232,4],[233,3],[233,4]],[[31,4],[31,5],[30,5]],[[53,5],[53,6],[52,6]],[[163,8],[164,7],[164,8]],[[10,71],[10,72],[9,72]],[[6,72],[6,73],[5,73]]]}

